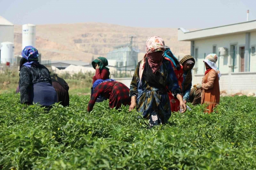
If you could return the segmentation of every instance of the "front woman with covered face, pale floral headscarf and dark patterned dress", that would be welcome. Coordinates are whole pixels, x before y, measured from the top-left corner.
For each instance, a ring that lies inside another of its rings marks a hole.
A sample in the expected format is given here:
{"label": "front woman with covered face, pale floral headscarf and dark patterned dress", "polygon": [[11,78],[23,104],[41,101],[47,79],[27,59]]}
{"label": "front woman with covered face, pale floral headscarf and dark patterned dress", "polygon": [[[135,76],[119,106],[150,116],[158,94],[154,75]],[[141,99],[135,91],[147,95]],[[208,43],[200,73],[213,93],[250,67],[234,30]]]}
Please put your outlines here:
{"label": "front woman with covered face, pale floral headscarf and dark patterned dress", "polygon": [[162,38],[149,37],[146,54],[137,64],[130,84],[129,111],[137,107],[143,118],[149,119],[150,127],[167,123],[171,117],[168,89],[172,91],[174,98],[180,100],[183,112],[186,110],[172,65],[163,57],[164,51],[165,44]]}

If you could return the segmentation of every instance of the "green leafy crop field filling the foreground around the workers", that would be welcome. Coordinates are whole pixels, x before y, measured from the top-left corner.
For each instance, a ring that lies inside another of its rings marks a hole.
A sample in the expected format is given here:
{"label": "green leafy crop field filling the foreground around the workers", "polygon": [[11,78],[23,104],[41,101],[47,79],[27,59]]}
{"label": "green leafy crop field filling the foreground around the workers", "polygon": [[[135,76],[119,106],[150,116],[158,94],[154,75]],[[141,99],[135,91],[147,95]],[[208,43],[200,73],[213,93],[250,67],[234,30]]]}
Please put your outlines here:
{"label": "green leafy crop field filling the foreground around the workers", "polygon": [[256,169],[256,98],[223,97],[210,115],[191,106],[152,129],[128,107],[88,113],[88,102],[47,113],[1,94],[0,169]]}

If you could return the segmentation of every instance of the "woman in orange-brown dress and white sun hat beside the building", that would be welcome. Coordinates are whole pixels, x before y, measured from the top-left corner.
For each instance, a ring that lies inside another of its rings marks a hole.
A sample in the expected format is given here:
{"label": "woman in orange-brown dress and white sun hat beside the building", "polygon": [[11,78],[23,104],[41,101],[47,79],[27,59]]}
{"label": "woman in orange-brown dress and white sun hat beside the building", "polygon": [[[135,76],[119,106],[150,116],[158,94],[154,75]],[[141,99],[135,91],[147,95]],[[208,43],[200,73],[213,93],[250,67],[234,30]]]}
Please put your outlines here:
{"label": "woman in orange-brown dress and white sun hat beside the building", "polygon": [[202,80],[202,84],[196,86],[196,89],[202,89],[201,104],[207,104],[207,112],[210,114],[213,108],[220,102],[220,85],[219,78],[221,76],[219,68],[216,65],[218,57],[216,54],[209,54],[204,59],[206,71]]}

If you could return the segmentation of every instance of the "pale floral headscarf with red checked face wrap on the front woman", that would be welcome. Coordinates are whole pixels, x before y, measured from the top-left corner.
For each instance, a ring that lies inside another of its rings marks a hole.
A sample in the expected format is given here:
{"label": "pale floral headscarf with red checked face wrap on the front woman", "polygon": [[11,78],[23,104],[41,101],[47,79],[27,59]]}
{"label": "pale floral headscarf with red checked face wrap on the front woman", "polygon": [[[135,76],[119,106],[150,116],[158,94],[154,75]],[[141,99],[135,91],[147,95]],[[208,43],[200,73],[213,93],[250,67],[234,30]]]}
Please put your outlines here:
{"label": "pale floral headscarf with red checked face wrap on the front woman", "polygon": [[157,37],[157,36],[149,37],[146,42],[146,54],[140,63],[140,70],[139,70],[140,80],[144,70],[146,58],[148,58],[149,66],[152,69],[153,73],[155,73],[160,69],[160,66],[163,61],[163,55],[161,53],[152,54],[153,52],[156,52],[156,51],[162,51],[162,52],[165,51],[164,40],[161,37]]}

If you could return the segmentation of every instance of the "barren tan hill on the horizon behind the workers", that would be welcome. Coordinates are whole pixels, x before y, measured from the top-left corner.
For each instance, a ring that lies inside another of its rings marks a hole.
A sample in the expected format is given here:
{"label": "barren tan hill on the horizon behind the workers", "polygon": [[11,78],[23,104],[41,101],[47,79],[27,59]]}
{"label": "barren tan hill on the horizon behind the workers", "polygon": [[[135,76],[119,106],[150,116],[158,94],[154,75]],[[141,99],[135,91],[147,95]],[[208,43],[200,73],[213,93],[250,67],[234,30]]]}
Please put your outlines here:
{"label": "barren tan hill on the horizon behind the workers", "polygon": [[[21,26],[14,27],[15,54],[22,46]],[[114,46],[129,43],[129,35],[136,35],[140,53],[145,53],[148,37],[162,37],[178,57],[190,53],[190,42],[177,40],[176,28],[137,28],[107,23],[49,24],[36,26],[36,48],[43,60],[91,61],[92,56],[107,56]]]}

